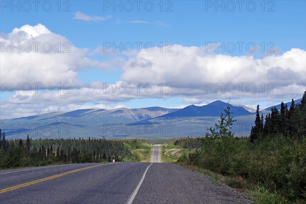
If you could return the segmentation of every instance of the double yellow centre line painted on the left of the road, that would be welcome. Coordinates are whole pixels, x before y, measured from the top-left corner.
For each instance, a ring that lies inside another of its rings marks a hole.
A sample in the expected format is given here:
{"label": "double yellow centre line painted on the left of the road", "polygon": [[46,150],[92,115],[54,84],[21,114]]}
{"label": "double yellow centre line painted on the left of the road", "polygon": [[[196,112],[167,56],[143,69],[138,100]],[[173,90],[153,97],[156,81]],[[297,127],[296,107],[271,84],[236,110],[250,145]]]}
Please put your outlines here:
{"label": "double yellow centre line painted on the left of the road", "polygon": [[112,164],[112,163],[98,164],[98,165],[94,165],[94,166],[84,167],[84,168],[81,168],[81,169],[75,169],[75,170],[72,170],[72,171],[67,171],[65,173],[60,173],[60,174],[57,174],[57,175],[49,176],[49,177],[46,177],[44,179],[39,179],[39,180],[36,180],[36,181],[33,181],[33,182],[28,182],[28,183],[20,184],[20,185],[17,185],[17,186],[12,186],[12,187],[9,187],[9,188],[5,188],[5,189],[0,190],[0,193],[5,193],[5,192],[16,190],[18,188],[22,188],[22,187],[25,187],[25,186],[30,186],[32,184],[37,184],[37,183],[44,182],[44,181],[47,181],[47,180],[50,180],[50,179],[55,179],[57,177],[67,175],[67,174],[70,174],[70,173],[74,173],[74,172],[78,172],[78,171],[82,171],[82,170],[85,170],[85,169],[90,169],[90,168],[94,168],[94,167],[98,167],[98,166],[108,165],[108,164]]}

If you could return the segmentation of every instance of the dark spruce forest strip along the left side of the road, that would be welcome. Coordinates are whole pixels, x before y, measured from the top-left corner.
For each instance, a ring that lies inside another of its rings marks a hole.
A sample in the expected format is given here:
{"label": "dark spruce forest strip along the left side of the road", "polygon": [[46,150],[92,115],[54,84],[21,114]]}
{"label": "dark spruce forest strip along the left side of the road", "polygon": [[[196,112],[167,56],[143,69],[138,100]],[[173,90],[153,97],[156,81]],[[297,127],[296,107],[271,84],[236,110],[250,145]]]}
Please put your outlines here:
{"label": "dark spruce forest strip along the left side of the road", "polygon": [[[1,131],[1,130],[0,130]],[[7,140],[2,133],[0,168],[129,160],[131,150],[143,147],[142,140],[38,139]],[[25,145],[23,145],[25,144]]]}

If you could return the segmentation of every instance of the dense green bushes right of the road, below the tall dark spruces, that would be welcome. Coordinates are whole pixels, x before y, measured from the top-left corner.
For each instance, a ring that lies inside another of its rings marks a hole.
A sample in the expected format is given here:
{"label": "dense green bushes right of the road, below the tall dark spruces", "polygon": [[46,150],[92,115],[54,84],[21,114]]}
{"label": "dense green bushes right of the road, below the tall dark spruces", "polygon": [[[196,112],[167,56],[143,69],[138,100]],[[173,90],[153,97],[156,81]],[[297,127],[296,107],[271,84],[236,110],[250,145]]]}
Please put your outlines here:
{"label": "dense green bushes right of the road, below the tall dark spruces", "polygon": [[306,197],[306,141],[267,137],[260,143],[245,138],[203,138],[200,149],[182,155],[179,162],[228,176],[241,176],[279,192],[288,199]]}

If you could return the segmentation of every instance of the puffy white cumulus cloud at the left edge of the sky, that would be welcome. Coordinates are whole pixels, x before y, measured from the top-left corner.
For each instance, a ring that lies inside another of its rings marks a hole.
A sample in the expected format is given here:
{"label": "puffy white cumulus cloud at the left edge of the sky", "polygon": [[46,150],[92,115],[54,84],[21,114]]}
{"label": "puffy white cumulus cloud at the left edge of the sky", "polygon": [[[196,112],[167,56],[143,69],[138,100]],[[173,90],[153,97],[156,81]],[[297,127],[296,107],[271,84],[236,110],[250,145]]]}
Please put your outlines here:
{"label": "puffy white cumulus cloud at the left edge of the sky", "polygon": [[109,62],[89,59],[88,53],[88,49],[74,46],[68,39],[50,32],[40,23],[35,26],[23,25],[1,36],[0,80],[14,86],[30,82],[49,83],[53,87],[59,83],[69,83],[78,87],[81,86],[77,79],[78,70],[111,67]]}

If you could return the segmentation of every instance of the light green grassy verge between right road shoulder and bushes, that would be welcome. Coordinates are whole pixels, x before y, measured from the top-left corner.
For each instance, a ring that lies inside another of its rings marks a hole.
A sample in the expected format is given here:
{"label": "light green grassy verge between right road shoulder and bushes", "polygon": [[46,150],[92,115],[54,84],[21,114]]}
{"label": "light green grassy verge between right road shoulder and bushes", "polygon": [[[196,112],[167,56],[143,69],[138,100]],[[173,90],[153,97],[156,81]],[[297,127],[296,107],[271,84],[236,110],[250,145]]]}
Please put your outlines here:
{"label": "light green grassy verge between right road shoulder and bushes", "polygon": [[[228,143],[226,143],[228,144]],[[180,155],[177,155],[177,152],[174,154],[173,150],[180,149],[178,151]],[[212,151],[211,149],[209,152]],[[166,154],[164,154],[166,152]],[[222,152],[222,151],[219,151]],[[181,157],[181,159],[179,159]],[[175,146],[173,143],[164,144],[162,147],[162,161],[163,162],[172,162],[182,166],[185,166],[193,171],[198,171],[200,173],[206,174],[210,177],[210,180],[217,185],[221,183],[226,184],[232,188],[235,188],[238,192],[246,193],[249,199],[254,204],[306,204],[306,201],[303,199],[296,199],[294,201],[289,200],[285,197],[279,190],[275,189],[273,191],[269,190],[266,186],[261,184],[256,184],[254,182],[248,181],[243,176],[240,175],[224,175],[218,172],[213,172],[210,169],[205,169],[203,167],[199,167],[199,165],[193,165],[189,162],[186,162],[184,157],[188,156],[189,159],[193,158],[193,161],[197,161],[197,159],[202,158],[203,155],[199,154],[196,149],[186,149],[180,148],[180,146]],[[217,159],[217,158],[216,158]],[[238,158],[239,159],[239,158]],[[213,162],[218,162],[218,160],[213,160]],[[197,162],[195,162],[198,164]],[[212,163],[215,164],[215,163]],[[244,163],[242,163],[244,164]],[[239,169],[239,168],[238,168]]]}

